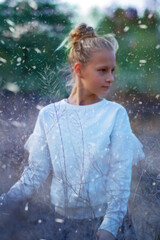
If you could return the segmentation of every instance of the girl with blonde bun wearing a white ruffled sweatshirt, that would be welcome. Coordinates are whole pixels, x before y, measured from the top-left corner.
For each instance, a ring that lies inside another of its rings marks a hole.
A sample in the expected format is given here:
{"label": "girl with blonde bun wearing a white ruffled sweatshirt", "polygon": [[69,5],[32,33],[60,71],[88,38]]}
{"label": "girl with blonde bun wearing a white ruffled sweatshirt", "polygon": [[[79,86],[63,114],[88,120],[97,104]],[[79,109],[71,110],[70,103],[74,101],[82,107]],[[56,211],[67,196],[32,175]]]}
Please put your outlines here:
{"label": "girl with blonde bun wearing a white ruffled sweatshirt", "polygon": [[125,108],[105,99],[114,82],[116,39],[80,24],[60,47],[67,41],[71,94],[40,110],[24,145],[29,166],[2,195],[1,206],[27,199],[53,169],[50,197],[55,219],[61,219],[56,239],[112,240],[127,210],[132,163],[144,158],[143,146]]}

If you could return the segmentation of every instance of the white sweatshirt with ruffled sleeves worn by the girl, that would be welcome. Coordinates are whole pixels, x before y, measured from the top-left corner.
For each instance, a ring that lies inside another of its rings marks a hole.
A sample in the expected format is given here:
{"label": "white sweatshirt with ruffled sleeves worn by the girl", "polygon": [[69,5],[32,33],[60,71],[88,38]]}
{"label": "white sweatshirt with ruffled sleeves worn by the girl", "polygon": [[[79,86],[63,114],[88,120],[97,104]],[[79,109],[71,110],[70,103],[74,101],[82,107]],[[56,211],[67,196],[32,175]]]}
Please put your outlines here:
{"label": "white sweatshirt with ruffled sleeves worn by the girl", "polygon": [[7,194],[26,199],[52,169],[55,210],[76,219],[104,216],[99,229],[116,236],[127,210],[132,164],[145,157],[142,147],[120,104],[102,99],[72,105],[62,99],[40,110],[24,145],[29,166]]}

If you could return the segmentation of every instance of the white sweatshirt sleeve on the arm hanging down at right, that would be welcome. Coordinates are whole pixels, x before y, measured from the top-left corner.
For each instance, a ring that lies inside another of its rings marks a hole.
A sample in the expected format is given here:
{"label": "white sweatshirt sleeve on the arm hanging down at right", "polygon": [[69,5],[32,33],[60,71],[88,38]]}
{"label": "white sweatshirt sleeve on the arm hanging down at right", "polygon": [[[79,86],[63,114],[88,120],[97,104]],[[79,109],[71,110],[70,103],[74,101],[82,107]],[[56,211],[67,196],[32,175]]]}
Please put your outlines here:
{"label": "white sweatshirt sleeve on the arm hanging down at right", "polygon": [[115,237],[127,212],[132,164],[145,157],[142,147],[132,132],[127,111],[122,106],[117,112],[111,134],[106,189],[108,208],[99,227],[111,232]]}

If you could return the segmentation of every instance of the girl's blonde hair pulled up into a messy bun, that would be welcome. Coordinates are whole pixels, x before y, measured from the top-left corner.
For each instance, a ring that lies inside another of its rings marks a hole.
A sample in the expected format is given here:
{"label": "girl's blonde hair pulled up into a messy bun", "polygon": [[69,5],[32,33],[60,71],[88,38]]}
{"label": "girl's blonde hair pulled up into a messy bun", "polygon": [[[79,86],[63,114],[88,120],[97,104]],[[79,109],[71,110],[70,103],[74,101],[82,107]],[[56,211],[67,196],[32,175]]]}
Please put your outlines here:
{"label": "girl's blonde hair pulled up into a messy bun", "polygon": [[[73,72],[74,64],[80,61],[82,64],[87,64],[92,53],[99,49],[109,49],[117,52],[119,45],[113,34],[98,35],[95,30],[87,26],[85,23],[77,25],[72,29],[61,45],[56,49],[59,50],[65,46],[68,53],[68,60],[71,71]],[[71,85],[74,81],[70,82]]]}

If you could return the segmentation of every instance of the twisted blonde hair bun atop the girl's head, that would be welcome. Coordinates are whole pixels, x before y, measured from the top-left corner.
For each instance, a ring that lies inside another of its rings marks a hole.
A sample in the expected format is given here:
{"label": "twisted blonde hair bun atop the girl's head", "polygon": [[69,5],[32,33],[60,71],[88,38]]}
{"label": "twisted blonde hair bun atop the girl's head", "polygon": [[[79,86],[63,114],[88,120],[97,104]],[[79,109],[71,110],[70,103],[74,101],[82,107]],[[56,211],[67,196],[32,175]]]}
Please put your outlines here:
{"label": "twisted blonde hair bun atop the girl's head", "polygon": [[90,26],[87,26],[85,23],[82,23],[76,26],[70,33],[69,36],[73,39],[72,44],[75,45],[78,41],[85,38],[96,37],[94,29]]}

